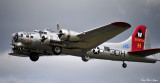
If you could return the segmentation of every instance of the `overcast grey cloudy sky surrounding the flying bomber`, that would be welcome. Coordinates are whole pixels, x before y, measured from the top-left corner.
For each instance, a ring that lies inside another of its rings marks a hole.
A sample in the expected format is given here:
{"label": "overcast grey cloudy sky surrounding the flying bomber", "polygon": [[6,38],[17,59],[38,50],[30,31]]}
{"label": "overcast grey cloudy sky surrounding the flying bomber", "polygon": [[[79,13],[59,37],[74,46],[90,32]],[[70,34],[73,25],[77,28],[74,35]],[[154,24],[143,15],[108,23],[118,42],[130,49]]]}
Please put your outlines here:
{"label": "overcast grey cloudy sky surrounding the flying bomber", "polygon": [[[8,55],[11,34],[61,28],[82,32],[124,21],[131,28],[107,42],[121,42],[138,25],[151,33],[151,46],[160,47],[160,0],[0,0],[0,83],[159,83],[160,62],[155,64],[90,60],[74,56],[43,56],[37,62]],[[156,57],[160,59],[160,54]],[[144,82],[143,80],[157,80]]]}

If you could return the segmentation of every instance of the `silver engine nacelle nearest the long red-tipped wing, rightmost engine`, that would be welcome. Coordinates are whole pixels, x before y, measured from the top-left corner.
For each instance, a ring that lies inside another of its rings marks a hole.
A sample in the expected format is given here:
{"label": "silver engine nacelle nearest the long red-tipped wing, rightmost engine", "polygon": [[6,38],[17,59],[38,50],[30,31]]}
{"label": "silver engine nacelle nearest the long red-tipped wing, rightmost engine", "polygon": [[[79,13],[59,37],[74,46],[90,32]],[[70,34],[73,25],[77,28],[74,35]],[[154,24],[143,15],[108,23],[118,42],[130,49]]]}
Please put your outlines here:
{"label": "silver engine nacelle nearest the long red-tipped wing, rightmost engine", "polygon": [[80,38],[77,36],[79,33],[75,31],[61,29],[59,30],[59,38],[63,41],[78,41]]}

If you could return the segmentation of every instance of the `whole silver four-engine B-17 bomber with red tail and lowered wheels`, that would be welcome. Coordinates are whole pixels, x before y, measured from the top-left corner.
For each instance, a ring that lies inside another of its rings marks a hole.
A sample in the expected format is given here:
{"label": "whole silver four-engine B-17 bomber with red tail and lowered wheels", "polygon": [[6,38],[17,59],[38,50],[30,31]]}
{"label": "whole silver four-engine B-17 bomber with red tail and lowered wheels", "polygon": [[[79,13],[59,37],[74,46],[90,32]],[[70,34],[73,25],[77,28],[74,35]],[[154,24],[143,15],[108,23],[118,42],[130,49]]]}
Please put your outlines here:
{"label": "whole silver four-engine B-17 bomber with red tail and lowered wheels", "polygon": [[123,42],[106,43],[130,27],[125,22],[114,22],[78,33],[60,29],[57,23],[57,33],[49,29],[21,31],[12,34],[12,53],[9,55],[30,57],[34,62],[40,56],[73,55],[84,62],[90,59],[122,61],[123,68],[127,67],[124,61],[157,62],[154,54],[159,53],[160,48],[151,49],[149,30],[144,25],[138,26]]}

